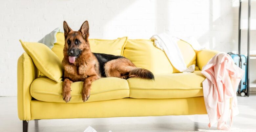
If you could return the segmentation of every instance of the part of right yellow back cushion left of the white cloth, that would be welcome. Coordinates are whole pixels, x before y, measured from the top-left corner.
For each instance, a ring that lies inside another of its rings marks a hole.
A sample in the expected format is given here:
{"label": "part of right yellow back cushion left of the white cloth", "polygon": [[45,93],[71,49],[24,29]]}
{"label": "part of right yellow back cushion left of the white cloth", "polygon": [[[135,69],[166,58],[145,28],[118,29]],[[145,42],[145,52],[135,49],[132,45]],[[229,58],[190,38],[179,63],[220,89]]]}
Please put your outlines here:
{"label": "part of right yellow back cushion left of the white cloth", "polygon": [[128,39],[124,57],[135,66],[145,68],[154,74],[172,73],[173,68],[165,53],[154,46],[151,39]]}

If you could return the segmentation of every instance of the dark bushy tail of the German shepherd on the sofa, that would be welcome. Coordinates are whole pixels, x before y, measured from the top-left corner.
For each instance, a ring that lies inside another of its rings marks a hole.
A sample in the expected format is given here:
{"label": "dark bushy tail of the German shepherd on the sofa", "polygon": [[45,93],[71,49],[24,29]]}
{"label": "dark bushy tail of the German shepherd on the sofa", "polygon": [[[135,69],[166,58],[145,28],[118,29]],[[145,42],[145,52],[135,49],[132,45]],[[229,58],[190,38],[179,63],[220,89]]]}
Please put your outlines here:
{"label": "dark bushy tail of the German shepherd on the sofa", "polygon": [[151,71],[143,68],[135,68],[131,70],[129,73],[129,78],[131,77],[155,80],[154,74]]}

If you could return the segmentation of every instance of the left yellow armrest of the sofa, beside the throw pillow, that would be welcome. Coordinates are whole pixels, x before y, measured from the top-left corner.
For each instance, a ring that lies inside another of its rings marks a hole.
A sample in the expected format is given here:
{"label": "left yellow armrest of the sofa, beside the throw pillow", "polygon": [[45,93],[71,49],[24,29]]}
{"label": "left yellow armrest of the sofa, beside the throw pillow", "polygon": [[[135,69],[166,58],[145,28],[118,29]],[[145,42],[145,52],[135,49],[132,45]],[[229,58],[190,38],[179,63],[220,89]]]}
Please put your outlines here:
{"label": "left yellow armrest of the sofa, beside the throw pillow", "polygon": [[38,77],[38,70],[27,53],[23,53],[17,63],[17,103],[20,120],[31,120],[30,85]]}

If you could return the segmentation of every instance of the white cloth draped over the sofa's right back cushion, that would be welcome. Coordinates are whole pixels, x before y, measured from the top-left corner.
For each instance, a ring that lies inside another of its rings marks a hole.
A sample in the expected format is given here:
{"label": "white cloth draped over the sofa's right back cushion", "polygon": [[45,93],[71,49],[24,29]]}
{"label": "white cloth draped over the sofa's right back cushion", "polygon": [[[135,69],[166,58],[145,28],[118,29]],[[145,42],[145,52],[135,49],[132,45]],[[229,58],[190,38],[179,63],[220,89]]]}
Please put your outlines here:
{"label": "white cloth draped over the sofa's right back cushion", "polygon": [[[187,67],[184,62],[183,56],[177,44],[177,42],[180,40],[179,38],[171,37],[166,33],[161,33],[158,35],[153,35],[151,39],[155,40],[155,46],[165,52],[169,61],[177,70],[183,73],[190,73],[195,71],[194,64]],[[195,48],[195,50],[200,51],[204,49],[199,45],[196,39],[193,39],[192,37],[188,37],[184,41],[188,43],[190,42],[189,44]]]}

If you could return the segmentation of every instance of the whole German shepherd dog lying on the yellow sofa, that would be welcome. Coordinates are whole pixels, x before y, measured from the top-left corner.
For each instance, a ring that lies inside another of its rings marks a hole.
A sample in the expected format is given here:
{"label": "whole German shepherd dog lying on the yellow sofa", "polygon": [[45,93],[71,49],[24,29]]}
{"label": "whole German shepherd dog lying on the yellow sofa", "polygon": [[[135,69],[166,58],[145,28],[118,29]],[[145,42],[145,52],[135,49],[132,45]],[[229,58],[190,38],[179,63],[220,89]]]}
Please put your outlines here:
{"label": "whole German shepherd dog lying on the yellow sofa", "polygon": [[131,77],[152,79],[154,75],[147,69],[136,67],[123,56],[104,53],[92,53],[89,37],[89,23],[85,21],[78,31],[73,31],[63,22],[65,46],[63,49],[64,67],[63,100],[71,99],[71,83],[83,81],[82,100],[90,97],[92,82],[104,77],[128,79]]}

